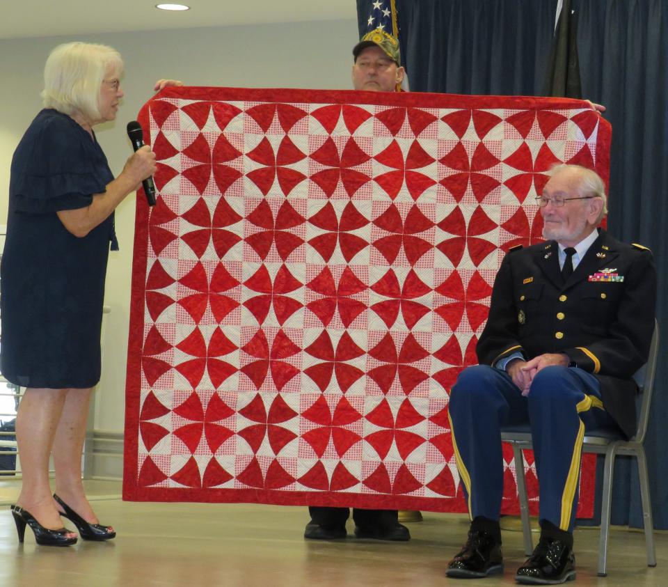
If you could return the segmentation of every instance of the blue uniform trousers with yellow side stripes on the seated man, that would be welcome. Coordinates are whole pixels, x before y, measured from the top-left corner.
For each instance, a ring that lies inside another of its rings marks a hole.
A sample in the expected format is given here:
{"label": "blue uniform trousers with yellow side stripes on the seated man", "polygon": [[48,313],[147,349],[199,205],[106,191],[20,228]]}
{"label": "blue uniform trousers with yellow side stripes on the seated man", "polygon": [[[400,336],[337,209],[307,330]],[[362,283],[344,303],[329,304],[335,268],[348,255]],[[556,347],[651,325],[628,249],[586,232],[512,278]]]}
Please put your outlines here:
{"label": "blue uniform trousers with yellow side stripes on the seated man", "polygon": [[614,426],[598,379],[580,368],[550,366],[522,396],[502,370],[477,365],[450,392],[452,444],[470,516],[498,520],[503,495],[502,426],[529,424],[540,491],[539,519],[573,531],[585,430]]}

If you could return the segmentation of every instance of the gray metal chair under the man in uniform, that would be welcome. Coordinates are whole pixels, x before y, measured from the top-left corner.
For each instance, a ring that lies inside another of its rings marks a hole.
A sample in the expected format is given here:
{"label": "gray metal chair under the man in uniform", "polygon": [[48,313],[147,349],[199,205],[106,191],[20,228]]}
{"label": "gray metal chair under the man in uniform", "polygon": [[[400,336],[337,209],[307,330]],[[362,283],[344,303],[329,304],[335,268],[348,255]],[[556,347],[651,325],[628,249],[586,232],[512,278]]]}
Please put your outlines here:
{"label": "gray metal chair under the man in uniform", "polygon": [[[607,562],[607,539],[610,534],[610,507],[612,505],[612,474],[614,472],[614,458],[617,455],[636,457],[638,462],[638,477],[640,480],[640,496],[642,498],[642,518],[645,530],[645,544],[647,548],[647,565],[656,566],[654,549],[654,535],[652,522],[652,507],[649,496],[649,477],[647,476],[647,461],[643,442],[649,421],[649,409],[654,386],[654,373],[659,346],[659,325],[655,320],[654,334],[649,350],[647,362],[633,376],[639,387],[638,428],[630,440],[625,440],[614,430],[591,430],[587,432],[582,444],[582,452],[605,455],[603,464],[603,502],[601,503],[601,538],[598,544],[598,576],[605,577]],[[524,474],[523,449],[532,448],[531,433],[528,426],[514,427],[502,430],[501,439],[513,447],[517,475],[517,492],[520,501],[520,517],[524,535],[524,548],[527,555],[533,551],[531,538],[531,524],[529,521],[529,498]]]}

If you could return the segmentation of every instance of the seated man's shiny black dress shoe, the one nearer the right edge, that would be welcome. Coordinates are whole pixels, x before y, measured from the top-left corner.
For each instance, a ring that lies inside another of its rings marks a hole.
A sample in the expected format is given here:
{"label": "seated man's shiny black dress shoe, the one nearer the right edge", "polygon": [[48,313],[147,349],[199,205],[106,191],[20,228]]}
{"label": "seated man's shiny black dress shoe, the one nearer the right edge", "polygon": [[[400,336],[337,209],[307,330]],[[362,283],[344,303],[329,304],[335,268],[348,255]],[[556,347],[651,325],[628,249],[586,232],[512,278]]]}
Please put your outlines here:
{"label": "seated man's shiny black dress shoe, the one nearer the right edge", "polygon": [[517,570],[515,580],[527,585],[558,585],[575,579],[573,549],[562,542],[541,536],[526,563]]}

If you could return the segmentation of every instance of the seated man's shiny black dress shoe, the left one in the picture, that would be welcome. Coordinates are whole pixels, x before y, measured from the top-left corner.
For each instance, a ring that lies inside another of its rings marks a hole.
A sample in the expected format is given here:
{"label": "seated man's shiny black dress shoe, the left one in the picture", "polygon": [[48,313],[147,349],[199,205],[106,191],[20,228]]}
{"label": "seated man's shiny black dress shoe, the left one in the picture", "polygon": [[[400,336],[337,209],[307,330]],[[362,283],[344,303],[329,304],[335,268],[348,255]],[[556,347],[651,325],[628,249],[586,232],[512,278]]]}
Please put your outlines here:
{"label": "seated man's shiny black dress shoe, the left one in the picture", "polygon": [[468,531],[468,540],[448,563],[447,577],[478,579],[503,572],[501,539],[484,530]]}

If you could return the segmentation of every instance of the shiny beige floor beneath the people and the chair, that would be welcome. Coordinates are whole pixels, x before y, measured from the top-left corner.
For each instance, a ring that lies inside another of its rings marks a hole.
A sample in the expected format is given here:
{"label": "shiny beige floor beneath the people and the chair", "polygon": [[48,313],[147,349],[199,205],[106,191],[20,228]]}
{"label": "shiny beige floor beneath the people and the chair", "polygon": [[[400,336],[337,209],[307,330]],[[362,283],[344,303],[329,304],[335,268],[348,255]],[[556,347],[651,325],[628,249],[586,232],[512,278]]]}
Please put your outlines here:
{"label": "shiny beige floor beneath the people and the chair", "polygon": [[[523,562],[522,535],[504,531],[506,572],[482,581],[445,578],[445,565],[466,538],[459,515],[424,513],[401,544],[312,542],[302,538],[305,508],[220,503],[132,503],[120,483],[89,481],[100,519],[118,538],[69,548],[38,547],[26,531],[19,545],[9,508],[18,491],[0,480],[0,586],[445,586],[513,585]],[[513,526],[514,524],[504,524]],[[349,523],[349,533],[352,532]],[[608,576],[596,576],[598,531],[575,534],[578,585],[668,586],[668,535],[656,535],[658,567],[647,568],[644,536],[614,529]],[[472,583],[474,585],[472,585]],[[570,585],[573,585],[572,583]]]}

